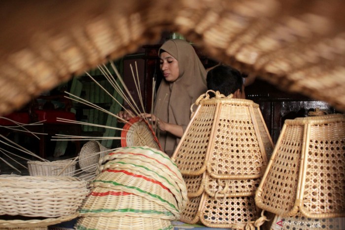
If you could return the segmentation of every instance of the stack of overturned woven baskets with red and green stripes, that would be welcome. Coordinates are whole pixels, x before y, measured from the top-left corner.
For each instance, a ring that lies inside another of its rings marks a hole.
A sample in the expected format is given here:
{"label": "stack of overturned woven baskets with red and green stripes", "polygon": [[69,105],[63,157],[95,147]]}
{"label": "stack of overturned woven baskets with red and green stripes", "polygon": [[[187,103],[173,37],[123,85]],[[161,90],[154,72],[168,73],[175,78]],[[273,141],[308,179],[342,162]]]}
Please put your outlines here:
{"label": "stack of overturned woven baskets with red and green stripes", "polygon": [[79,209],[77,229],[171,229],[186,206],[177,166],[149,147],[126,147],[100,159],[91,193]]}

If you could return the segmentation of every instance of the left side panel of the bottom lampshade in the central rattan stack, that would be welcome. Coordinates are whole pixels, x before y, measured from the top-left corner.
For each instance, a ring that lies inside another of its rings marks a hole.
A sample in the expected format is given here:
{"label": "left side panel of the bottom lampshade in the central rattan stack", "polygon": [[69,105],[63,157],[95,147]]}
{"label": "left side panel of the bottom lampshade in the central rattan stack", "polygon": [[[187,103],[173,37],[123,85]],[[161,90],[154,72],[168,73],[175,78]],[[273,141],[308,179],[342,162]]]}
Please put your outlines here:
{"label": "left side panel of the bottom lampshade in the central rattan stack", "polygon": [[199,206],[202,196],[191,197],[187,202],[187,207],[182,211],[180,221],[194,225],[200,220]]}

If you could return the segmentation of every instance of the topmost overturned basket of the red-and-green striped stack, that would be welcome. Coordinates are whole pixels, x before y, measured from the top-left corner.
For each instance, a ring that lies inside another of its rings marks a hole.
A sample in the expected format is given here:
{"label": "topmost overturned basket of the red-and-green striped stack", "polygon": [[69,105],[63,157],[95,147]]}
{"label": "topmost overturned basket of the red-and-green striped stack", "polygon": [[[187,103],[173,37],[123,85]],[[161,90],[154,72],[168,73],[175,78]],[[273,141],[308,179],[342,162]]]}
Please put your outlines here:
{"label": "topmost overturned basket of the red-and-green striped stack", "polygon": [[166,153],[149,147],[125,147],[110,153],[100,160],[99,171],[102,171],[102,164],[106,161],[127,157],[152,163],[157,167],[166,167],[173,175],[176,176],[180,184],[184,183],[182,175],[172,159]]}

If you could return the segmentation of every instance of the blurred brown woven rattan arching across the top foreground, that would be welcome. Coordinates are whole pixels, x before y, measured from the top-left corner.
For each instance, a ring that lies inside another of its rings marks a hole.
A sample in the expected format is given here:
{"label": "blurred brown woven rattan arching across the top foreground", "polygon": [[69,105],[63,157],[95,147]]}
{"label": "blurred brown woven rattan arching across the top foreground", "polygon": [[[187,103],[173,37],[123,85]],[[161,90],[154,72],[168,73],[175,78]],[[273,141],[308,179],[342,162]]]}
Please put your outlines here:
{"label": "blurred brown woven rattan arching across the top foreground", "polygon": [[161,32],[345,111],[344,0],[2,1],[0,115]]}

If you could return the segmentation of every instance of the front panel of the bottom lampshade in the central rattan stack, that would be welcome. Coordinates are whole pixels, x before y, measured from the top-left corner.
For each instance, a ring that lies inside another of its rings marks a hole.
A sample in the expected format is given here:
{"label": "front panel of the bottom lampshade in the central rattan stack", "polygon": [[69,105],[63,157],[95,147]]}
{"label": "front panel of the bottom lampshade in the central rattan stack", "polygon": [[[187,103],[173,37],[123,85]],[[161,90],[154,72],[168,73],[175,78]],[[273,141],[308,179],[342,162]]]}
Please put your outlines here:
{"label": "front panel of the bottom lampshade in the central rattan stack", "polygon": [[200,210],[200,221],[210,228],[244,229],[258,217],[253,196],[216,199],[205,194]]}

